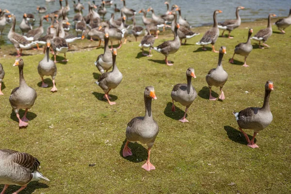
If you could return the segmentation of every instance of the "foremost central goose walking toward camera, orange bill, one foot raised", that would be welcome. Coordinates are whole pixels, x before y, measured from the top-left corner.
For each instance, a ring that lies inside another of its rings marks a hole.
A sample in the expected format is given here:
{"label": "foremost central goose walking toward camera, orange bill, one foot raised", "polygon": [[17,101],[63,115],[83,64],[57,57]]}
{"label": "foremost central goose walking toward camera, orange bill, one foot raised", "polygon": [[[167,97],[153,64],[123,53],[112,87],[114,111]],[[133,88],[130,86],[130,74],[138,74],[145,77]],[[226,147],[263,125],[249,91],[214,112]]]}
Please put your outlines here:
{"label": "foremost central goose walking toward camera, orange bill, one foot raised", "polygon": [[155,88],[153,86],[146,86],[144,92],[146,113],[145,116],[138,116],[131,119],[126,128],[126,143],[122,150],[123,157],[131,156],[132,152],[129,148],[129,142],[140,142],[146,144],[147,149],[147,160],[142,166],[147,171],[155,170],[156,167],[150,162],[150,150],[154,145],[156,137],[159,133],[159,126],[153,119],[151,110],[152,98],[157,99],[155,94]]}

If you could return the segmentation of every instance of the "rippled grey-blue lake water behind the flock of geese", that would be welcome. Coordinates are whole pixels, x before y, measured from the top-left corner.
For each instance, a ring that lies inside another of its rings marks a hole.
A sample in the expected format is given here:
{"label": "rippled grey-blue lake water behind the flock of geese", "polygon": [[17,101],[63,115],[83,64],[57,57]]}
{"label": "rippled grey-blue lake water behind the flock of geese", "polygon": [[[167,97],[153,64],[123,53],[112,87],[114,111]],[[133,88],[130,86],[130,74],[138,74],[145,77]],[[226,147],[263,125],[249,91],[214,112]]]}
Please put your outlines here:
{"label": "rippled grey-blue lake water behind the flock of geese", "polygon": [[[76,0],[78,1],[78,0]],[[96,3],[100,3],[101,0],[96,0]],[[138,11],[142,8],[147,9],[152,6],[155,10],[156,15],[162,15],[166,12],[166,5],[164,0],[127,0],[126,6]],[[259,18],[267,18],[269,13],[276,14],[277,16],[288,16],[290,9],[290,0],[168,0],[170,6],[177,4],[181,7],[181,13],[183,17],[186,17],[187,21],[193,26],[198,27],[202,25],[208,25],[213,23],[212,15],[213,11],[220,9],[223,11],[222,14],[217,16],[219,22],[225,19],[235,19],[235,8],[239,5],[244,6],[245,9],[240,11],[242,21],[254,21]],[[81,0],[84,4],[85,10],[83,15],[88,14],[87,1]],[[113,4],[117,4],[117,8],[123,7],[123,2],[120,0],[114,0]],[[69,22],[72,24],[72,18],[75,13],[73,10],[73,0],[69,0],[70,12],[68,14]],[[36,6],[46,6],[48,11],[44,14],[48,14],[55,10],[60,9],[59,1],[45,2],[45,0],[0,0],[0,8],[8,9],[11,13],[16,15],[16,32],[21,33],[19,29],[19,23],[22,20],[23,13],[31,13],[35,16],[34,28],[38,27],[39,19],[41,14],[36,11]],[[63,0],[63,6],[65,6],[65,0]],[[111,13],[114,13],[114,6],[107,6],[107,14],[105,19],[110,19]],[[43,14],[43,15],[44,15]],[[115,18],[119,17],[120,13],[115,13]],[[150,17],[151,13],[147,13],[147,17]],[[136,16],[137,25],[144,26],[142,22],[142,14]],[[44,20],[44,28],[49,26],[50,21]],[[12,24],[6,25],[3,35],[0,36],[0,44],[11,44],[7,39],[7,34]],[[74,29],[71,28],[70,33],[75,33]]]}

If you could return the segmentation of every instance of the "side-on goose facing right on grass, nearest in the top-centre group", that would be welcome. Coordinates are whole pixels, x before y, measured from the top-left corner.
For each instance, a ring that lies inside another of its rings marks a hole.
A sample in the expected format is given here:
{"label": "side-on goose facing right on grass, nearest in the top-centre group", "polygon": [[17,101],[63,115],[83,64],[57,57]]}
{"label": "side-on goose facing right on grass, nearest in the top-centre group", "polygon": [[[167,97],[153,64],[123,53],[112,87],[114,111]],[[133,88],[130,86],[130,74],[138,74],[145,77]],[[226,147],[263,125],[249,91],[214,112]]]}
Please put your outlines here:
{"label": "side-on goose facing right on grass, nearest in the top-centre group", "polygon": [[165,62],[166,62],[166,65],[168,66],[173,65],[171,64],[170,61],[168,61],[168,55],[174,54],[175,52],[177,52],[181,45],[180,39],[178,37],[178,32],[177,32],[179,28],[180,28],[180,25],[177,24],[175,26],[175,31],[174,31],[174,37],[175,37],[174,40],[165,41],[158,47],[153,48],[154,50],[161,52],[163,55],[165,55]]}

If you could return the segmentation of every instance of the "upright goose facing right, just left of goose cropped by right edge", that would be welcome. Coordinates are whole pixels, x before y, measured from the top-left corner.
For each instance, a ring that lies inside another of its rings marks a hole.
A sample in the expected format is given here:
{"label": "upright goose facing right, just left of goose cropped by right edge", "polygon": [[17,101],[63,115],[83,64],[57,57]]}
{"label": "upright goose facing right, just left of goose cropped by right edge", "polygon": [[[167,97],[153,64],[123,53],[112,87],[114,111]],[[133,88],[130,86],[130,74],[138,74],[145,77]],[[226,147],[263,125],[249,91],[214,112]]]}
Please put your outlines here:
{"label": "upright goose facing right, just left of goose cropped by right edge", "polygon": [[275,16],[276,16],[275,14],[269,14],[267,28],[260,30],[258,33],[256,33],[255,36],[251,37],[251,39],[259,41],[259,49],[264,49],[264,47],[260,46],[261,41],[263,41],[263,46],[270,47],[269,45],[265,44],[265,42],[273,33],[272,25],[271,25],[271,18]]}

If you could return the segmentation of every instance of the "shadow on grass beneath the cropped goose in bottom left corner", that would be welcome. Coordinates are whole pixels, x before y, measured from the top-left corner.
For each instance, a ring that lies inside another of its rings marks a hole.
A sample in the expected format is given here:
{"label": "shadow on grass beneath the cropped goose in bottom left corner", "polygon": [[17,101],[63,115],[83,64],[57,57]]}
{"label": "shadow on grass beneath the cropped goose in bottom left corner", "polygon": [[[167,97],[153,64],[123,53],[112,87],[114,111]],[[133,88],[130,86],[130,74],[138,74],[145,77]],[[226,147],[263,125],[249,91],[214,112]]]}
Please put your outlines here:
{"label": "shadow on grass beneath the cropped goose in bottom left corner", "polygon": [[[2,191],[4,188],[4,185],[0,185],[0,191]],[[16,185],[9,185],[9,187],[6,189],[6,194],[12,194],[13,192],[16,192],[20,186]],[[31,183],[28,184],[28,186],[22,190],[20,193],[21,194],[33,194],[37,189],[42,189],[42,188],[49,188],[47,184],[37,182],[37,181],[32,181]]]}

